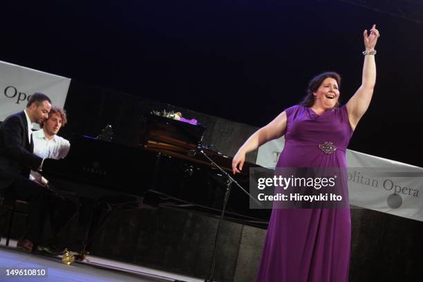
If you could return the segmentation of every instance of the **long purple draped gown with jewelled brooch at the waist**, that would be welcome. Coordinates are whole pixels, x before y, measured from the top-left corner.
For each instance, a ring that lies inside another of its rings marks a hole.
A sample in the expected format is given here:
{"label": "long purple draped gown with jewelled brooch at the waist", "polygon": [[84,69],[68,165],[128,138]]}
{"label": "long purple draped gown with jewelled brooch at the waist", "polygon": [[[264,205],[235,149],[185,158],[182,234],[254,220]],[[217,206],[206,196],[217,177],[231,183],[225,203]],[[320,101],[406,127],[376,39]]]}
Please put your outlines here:
{"label": "long purple draped gown with jewelled brooch at the waist", "polygon": [[[321,115],[306,106],[285,112],[285,147],[276,167],[346,167],[353,135],[346,106]],[[334,153],[319,149],[326,141],[335,144]],[[350,239],[349,207],[273,209],[256,282],[348,281]]]}

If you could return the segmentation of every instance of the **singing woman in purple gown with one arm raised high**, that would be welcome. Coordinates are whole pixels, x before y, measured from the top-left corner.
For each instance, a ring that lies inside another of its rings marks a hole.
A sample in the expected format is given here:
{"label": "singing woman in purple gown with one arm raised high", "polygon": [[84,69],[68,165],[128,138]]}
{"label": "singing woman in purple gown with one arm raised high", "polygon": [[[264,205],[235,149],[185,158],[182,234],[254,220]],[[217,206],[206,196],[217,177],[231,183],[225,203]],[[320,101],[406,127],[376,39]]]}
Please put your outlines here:
{"label": "singing woman in purple gown with one arm raised high", "polygon": [[[376,82],[375,25],[364,30],[361,86],[339,106],[340,77],[314,77],[301,105],[292,106],[254,133],[232,162],[234,174],[243,168],[245,154],[285,135],[276,167],[346,167],[346,148],[366,112]],[[330,144],[331,143],[331,144]],[[326,146],[325,146],[326,145]],[[346,193],[348,195],[348,193]],[[350,209],[273,209],[257,282],[348,281]]]}

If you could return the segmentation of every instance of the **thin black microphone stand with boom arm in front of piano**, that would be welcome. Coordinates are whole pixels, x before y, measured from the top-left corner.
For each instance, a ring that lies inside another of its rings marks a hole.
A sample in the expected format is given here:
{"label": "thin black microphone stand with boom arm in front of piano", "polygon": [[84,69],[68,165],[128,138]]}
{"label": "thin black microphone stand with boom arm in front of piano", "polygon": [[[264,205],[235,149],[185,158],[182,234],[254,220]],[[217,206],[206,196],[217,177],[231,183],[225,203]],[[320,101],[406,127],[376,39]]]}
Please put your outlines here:
{"label": "thin black microphone stand with boom arm in front of piano", "polygon": [[250,196],[250,198],[252,198],[258,205],[261,206],[261,203],[259,203],[253,196],[251,196],[250,193],[245,191],[245,189],[241,185],[239,185],[238,182],[236,182],[236,180],[234,180],[234,178],[232,178],[232,176],[230,176],[229,173],[227,173],[225,171],[225,169],[222,169],[221,167],[219,167],[218,164],[216,164],[216,162],[214,162],[211,158],[209,158],[209,156],[207,156],[207,154],[203,151],[203,148],[206,148],[206,147],[203,147],[202,145],[198,145],[198,147],[197,147],[198,151],[200,153],[202,153],[203,156],[205,156],[205,158],[207,158],[210,162],[212,162],[212,164],[215,167],[217,167],[220,171],[222,171],[222,173],[225,174],[225,176],[227,177],[225,196],[223,198],[222,212],[220,213],[219,223],[218,223],[218,227],[217,227],[217,230],[216,230],[216,236],[214,238],[212,263],[210,263],[209,274],[207,274],[207,279],[205,279],[205,282],[213,282],[214,281],[213,280],[214,267],[216,266],[216,249],[217,249],[218,238],[219,238],[219,235],[220,235],[220,227],[222,227],[223,218],[225,217],[225,209],[226,209],[226,205],[227,205],[227,200],[229,200],[229,194],[231,193],[232,183],[235,183],[238,187],[240,187],[241,190],[243,190],[248,196]]}

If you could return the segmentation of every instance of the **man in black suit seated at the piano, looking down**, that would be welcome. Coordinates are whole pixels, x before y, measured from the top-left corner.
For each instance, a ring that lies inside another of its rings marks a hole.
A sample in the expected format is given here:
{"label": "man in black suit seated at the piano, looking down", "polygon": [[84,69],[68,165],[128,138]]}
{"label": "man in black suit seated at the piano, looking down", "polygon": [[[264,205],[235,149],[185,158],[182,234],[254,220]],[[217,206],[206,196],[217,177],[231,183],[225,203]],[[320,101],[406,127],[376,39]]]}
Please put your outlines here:
{"label": "man in black suit seated at the piano, looking down", "polygon": [[30,202],[26,238],[17,247],[32,252],[41,240],[45,198],[48,191],[29,180],[30,169],[41,169],[43,159],[32,153],[32,122],[40,123],[48,118],[50,99],[42,94],[30,96],[26,109],[8,116],[0,124],[0,194]]}

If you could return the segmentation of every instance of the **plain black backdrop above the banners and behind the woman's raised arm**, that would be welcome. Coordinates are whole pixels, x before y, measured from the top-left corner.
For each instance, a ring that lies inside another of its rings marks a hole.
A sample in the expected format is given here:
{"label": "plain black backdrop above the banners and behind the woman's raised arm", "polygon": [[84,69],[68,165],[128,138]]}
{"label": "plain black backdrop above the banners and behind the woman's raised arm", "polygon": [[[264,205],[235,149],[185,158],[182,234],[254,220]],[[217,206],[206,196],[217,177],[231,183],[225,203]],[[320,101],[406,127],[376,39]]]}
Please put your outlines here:
{"label": "plain black backdrop above the banners and behind the woman's raised arm", "polygon": [[341,73],[346,102],[377,23],[375,95],[350,149],[423,166],[418,23],[343,1],[8,1],[0,20],[4,61],[254,126],[321,71]]}

